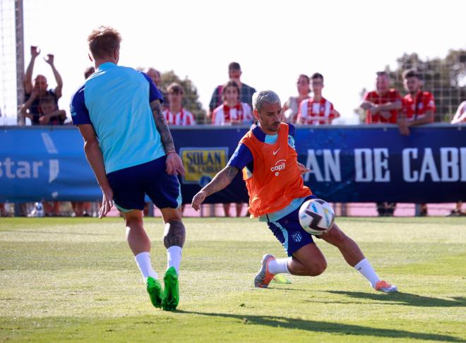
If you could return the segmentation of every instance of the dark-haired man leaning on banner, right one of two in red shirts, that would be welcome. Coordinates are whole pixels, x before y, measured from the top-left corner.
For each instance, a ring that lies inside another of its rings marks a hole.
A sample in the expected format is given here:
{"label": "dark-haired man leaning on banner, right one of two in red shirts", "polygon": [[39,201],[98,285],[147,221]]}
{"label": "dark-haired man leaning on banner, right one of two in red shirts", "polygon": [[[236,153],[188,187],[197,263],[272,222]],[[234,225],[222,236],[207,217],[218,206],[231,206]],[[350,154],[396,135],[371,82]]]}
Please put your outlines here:
{"label": "dark-haired man leaning on banner, right one of two in red shirts", "polygon": [[[429,124],[434,122],[434,95],[422,91],[422,78],[414,69],[403,73],[403,85],[407,95],[402,99],[402,111],[398,117],[398,128],[404,136],[410,135],[410,126]],[[427,204],[421,204],[420,215],[427,215]]]}

